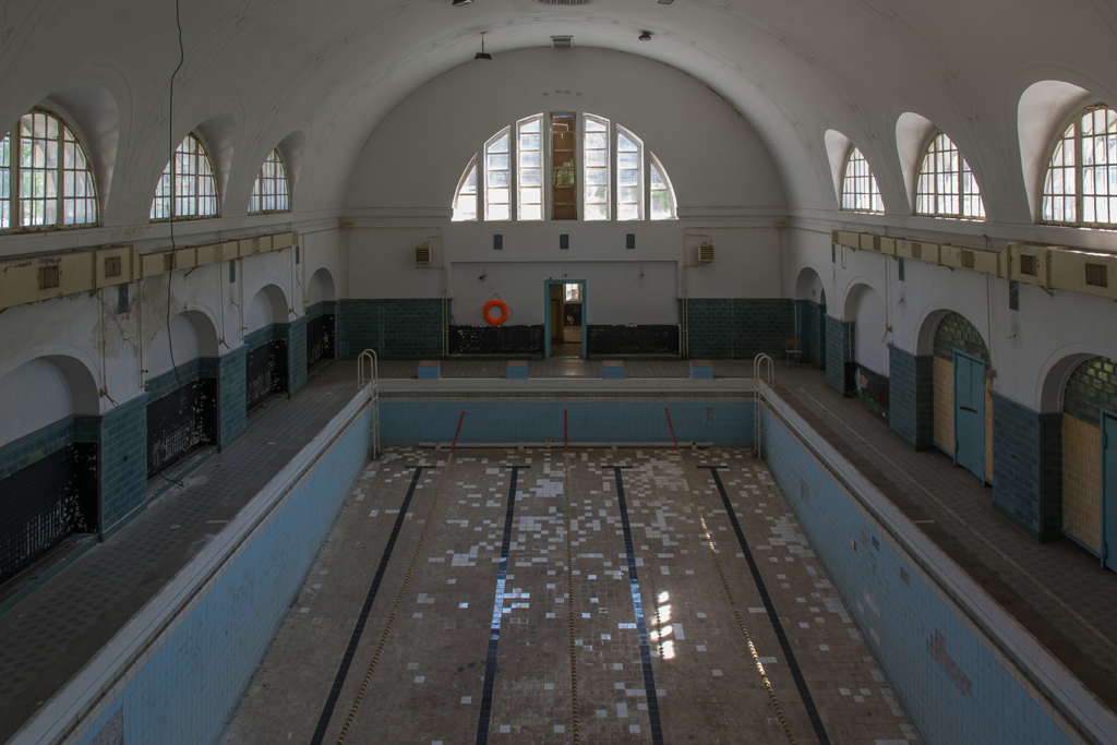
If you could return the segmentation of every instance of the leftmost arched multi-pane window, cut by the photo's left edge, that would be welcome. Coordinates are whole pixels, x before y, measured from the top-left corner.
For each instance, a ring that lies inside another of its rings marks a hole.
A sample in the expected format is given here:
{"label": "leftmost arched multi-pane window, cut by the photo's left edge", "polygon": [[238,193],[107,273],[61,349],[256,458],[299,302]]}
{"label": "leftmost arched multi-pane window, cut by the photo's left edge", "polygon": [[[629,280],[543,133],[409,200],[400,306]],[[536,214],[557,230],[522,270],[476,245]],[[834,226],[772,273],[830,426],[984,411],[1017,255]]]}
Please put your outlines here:
{"label": "leftmost arched multi-pane window, cut by the photo's left edge", "polygon": [[0,141],[0,230],[97,222],[93,164],[74,131],[45,111]]}

